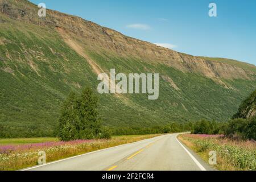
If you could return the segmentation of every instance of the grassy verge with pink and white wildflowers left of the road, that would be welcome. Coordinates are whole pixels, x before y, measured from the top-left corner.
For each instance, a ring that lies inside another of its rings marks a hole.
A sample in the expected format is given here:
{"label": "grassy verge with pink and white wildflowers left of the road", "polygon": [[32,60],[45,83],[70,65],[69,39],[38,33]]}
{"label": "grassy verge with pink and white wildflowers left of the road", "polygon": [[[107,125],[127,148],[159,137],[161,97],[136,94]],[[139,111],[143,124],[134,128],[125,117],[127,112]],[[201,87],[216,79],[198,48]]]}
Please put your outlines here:
{"label": "grassy verge with pink and white wildflowers left of the road", "polygon": [[[137,142],[157,136],[159,135],[127,135],[112,137],[112,139],[108,140],[75,140],[71,142],[60,142],[56,141],[55,138],[48,138],[50,141],[42,143],[35,142],[37,139],[25,139],[26,141],[32,140],[32,142],[30,144],[18,145],[16,144],[17,139],[9,139],[12,144],[0,146],[0,171],[10,171],[36,166],[38,164],[39,151],[46,152],[46,161],[52,162],[85,154],[86,152]],[[45,139],[46,138],[42,138],[42,140]],[[1,143],[6,143],[6,141]]]}

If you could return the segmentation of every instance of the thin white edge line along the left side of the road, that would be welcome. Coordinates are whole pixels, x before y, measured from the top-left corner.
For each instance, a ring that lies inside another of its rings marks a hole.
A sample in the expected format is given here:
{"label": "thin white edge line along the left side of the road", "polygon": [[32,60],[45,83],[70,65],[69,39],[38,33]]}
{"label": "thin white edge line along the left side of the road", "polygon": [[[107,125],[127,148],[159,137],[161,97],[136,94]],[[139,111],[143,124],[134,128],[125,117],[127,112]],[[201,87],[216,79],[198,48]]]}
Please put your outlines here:
{"label": "thin white edge line along the left side of the road", "polygon": [[[159,138],[159,137],[162,137],[162,136],[164,136],[164,135],[160,135],[160,136],[154,137],[154,138]],[[154,139],[154,138],[148,138],[148,139],[144,139],[144,140],[150,140],[150,139]],[[137,141],[137,142],[143,142],[144,140],[139,140],[139,141]],[[46,164],[43,164],[43,165],[38,165],[38,166],[30,167],[30,168],[20,169],[20,170],[18,170],[18,171],[29,171],[30,169],[35,169],[35,168],[39,168],[39,167],[44,167],[44,166],[47,166],[47,165],[50,165],[50,164],[62,162],[62,161],[64,161],[64,160],[69,160],[69,159],[73,159],[73,158],[78,158],[78,157],[80,157],[80,156],[89,155],[89,154],[93,154],[93,153],[96,153],[96,152],[100,152],[100,151],[109,150],[109,149],[112,149],[112,148],[117,148],[117,147],[125,146],[125,145],[128,145],[128,144],[134,144],[134,143],[137,143],[137,142],[125,143],[125,144],[121,144],[121,145],[119,145],[119,146],[114,146],[114,147],[109,147],[109,148],[103,148],[103,149],[101,149],[101,150],[96,150],[96,151],[88,152],[88,153],[86,153],[86,154],[76,155],[76,156],[73,156],[73,157],[71,157],[71,158],[56,160],[56,161],[53,161],[53,162],[50,162],[50,163],[46,163]]]}

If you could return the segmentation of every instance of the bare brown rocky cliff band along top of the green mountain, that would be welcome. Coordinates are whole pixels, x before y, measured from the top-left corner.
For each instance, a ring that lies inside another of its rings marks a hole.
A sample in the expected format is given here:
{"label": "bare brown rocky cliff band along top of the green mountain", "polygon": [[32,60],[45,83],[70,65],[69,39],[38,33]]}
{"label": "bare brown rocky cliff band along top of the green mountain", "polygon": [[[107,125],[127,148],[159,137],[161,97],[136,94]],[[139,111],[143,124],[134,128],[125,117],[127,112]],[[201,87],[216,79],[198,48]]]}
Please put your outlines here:
{"label": "bare brown rocky cliff band along top of the green mountain", "polygon": [[[224,62],[209,61],[201,57],[185,55],[171,49],[155,46],[138,39],[130,38],[110,28],[101,27],[77,16],[71,16],[57,11],[47,10],[46,18],[39,18],[38,8],[26,0],[1,0],[2,14],[16,20],[47,26],[62,28],[74,42],[82,47],[97,52],[113,52],[121,57],[135,57],[151,63],[163,63],[183,72],[200,73],[213,78],[222,84],[220,78],[225,79],[254,79],[254,65],[246,64],[244,69]],[[253,70],[252,70],[253,69]]]}

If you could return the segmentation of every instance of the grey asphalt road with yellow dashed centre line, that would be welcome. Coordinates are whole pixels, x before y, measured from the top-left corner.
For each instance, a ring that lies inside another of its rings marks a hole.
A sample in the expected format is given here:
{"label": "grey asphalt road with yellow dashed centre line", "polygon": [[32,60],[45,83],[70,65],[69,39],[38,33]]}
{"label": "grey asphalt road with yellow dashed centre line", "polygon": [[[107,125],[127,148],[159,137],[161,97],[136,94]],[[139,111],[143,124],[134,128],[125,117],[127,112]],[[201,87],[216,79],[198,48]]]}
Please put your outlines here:
{"label": "grey asphalt road with yellow dashed centre line", "polygon": [[205,171],[211,170],[185,147],[178,134],[162,135],[122,146],[24,169],[25,171]]}

